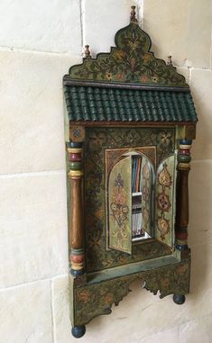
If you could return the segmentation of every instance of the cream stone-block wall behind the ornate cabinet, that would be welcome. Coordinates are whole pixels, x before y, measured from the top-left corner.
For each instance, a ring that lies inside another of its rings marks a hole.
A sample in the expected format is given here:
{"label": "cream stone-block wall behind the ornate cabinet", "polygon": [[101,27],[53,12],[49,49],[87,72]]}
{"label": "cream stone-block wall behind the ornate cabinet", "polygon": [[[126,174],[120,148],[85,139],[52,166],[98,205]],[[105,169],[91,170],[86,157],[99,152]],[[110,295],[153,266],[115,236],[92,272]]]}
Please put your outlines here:
{"label": "cream stone-block wall behind the ornate cabinet", "polygon": [[114,44],[137,5],[152,50],[171,53],[191,86],[198,135],[190,172],[191,290],[183,306],[132,285],[86,343],[212,341],[211,0],[0,2],[0,342],[68,343],[65,149],[61,79]]}

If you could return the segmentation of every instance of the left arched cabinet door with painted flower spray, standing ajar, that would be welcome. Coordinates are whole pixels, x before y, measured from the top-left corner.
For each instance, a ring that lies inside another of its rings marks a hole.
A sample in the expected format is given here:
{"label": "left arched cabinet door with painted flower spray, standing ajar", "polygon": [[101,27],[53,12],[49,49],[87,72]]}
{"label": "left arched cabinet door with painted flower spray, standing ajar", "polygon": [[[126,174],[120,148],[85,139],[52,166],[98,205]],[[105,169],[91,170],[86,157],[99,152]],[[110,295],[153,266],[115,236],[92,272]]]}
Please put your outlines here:
{"label": "left arched cabinet door with painted flower spray, standing ajar", "polygon": [[132,253],[132,158],[112,168],[107,183],[108,247]]}

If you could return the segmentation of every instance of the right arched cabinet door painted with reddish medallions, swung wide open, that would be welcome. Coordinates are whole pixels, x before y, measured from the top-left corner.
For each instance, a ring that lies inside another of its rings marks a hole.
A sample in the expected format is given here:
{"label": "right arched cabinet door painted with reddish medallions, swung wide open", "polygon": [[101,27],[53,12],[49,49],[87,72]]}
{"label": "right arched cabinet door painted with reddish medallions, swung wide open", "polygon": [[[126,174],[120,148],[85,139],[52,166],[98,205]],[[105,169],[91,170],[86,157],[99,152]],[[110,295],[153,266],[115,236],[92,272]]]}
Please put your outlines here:
{"label": "right arched cabinet door painted with reddish medallions, swung wide open", "polygon": [[156,175],[155,238],[173,246],[175,218],[176,158],[161,162]]}

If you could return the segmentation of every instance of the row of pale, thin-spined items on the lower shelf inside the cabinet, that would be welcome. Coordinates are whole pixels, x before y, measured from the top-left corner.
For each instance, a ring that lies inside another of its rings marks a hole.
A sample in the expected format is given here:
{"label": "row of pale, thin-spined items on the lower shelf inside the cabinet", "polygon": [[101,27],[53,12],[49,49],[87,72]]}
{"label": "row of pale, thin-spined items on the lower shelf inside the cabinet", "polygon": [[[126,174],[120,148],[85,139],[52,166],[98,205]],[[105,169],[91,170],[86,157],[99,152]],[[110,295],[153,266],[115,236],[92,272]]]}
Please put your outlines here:
{"label": "row of pale, thin-spined items on the lower shelf inside the cabinet", "polygon": [[133,198],[132,217],[133,239],[143,237],[144,232],[142,231],[142,196],[136,196]]}

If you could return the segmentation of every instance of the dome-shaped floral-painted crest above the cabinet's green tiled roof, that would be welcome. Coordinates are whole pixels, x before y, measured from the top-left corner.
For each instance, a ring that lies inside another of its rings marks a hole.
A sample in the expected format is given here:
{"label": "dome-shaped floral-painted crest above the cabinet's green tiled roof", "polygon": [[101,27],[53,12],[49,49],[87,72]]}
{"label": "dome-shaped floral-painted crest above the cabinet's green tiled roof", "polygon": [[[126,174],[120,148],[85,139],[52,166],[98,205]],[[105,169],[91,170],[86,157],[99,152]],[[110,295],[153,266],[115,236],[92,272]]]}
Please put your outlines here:
{"label": "dome-shaped floral-painted crest above the cabinet's green tiled roof", "polygon": [[71,67],[69,76],[73,80],[189,87],[176,68],[154,57],[149,35],[137,23],[119,30],[115,44],[110,53],[100,53],[97,59],[84,59],[81,65]]}

